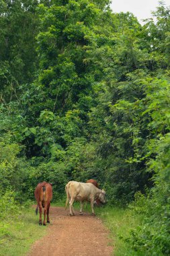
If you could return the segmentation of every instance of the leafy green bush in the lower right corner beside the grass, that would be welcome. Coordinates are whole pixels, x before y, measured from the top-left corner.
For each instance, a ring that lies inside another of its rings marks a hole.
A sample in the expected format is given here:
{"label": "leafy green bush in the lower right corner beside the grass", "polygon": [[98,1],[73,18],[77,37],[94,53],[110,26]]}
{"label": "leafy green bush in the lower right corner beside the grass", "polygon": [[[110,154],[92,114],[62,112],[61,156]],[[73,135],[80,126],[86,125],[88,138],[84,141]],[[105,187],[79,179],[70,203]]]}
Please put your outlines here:
{"label": "leafy green bush in the lower right corner beside the grass", "polygon": [[138,194],[130,205],[135,213],[144,216],[144,221],[131,230],[129,242],[145,255],[170,255],[170,205],[166,201],[160,203],[160,199],[161,193],[155,188],[148,197]]}

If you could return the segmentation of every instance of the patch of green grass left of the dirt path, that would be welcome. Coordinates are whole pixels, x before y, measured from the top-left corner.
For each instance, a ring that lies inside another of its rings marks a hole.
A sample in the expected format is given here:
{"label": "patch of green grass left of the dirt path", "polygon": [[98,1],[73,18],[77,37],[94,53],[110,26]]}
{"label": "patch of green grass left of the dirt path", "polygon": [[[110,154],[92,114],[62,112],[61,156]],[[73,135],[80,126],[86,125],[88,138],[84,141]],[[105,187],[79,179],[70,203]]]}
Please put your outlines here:
{"label": "patch of green grass left of the dirt path", "polygon": [[20,256],[28,253],[34,241],[46,234],[46,226],[38,225],[35,209],[22,210],[0,223],[0,255]]}

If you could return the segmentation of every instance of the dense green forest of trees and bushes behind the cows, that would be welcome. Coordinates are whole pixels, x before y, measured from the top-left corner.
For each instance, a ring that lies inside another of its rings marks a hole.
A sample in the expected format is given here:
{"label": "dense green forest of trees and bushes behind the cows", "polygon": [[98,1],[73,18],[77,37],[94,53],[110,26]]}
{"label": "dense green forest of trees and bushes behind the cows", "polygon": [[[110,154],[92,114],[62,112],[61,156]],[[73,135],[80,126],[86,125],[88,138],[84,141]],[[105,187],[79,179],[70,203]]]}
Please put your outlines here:
{"label": "dense green forest of trees and bushes behind the cows", "polygon": [[109,0],[1,0],[0,35],[0,249],[38,183],[57,201],[96,179],[143,216],[136,255],[170,255],[170,6],[141,25]]}

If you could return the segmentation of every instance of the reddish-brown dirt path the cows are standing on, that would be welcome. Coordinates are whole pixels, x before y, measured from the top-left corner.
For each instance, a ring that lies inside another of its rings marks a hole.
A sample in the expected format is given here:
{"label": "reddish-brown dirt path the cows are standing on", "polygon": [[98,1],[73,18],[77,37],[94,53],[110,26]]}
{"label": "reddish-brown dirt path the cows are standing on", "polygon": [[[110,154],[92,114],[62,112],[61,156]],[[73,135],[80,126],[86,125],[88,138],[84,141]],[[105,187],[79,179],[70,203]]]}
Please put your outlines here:
{"label": "reddish-brown dirt path the cows are standing on", "polygon": [[89,213],[70,217],[63,207],[50,207],[48,234],[36,241],[28,256],[111,256],[108,230]]}

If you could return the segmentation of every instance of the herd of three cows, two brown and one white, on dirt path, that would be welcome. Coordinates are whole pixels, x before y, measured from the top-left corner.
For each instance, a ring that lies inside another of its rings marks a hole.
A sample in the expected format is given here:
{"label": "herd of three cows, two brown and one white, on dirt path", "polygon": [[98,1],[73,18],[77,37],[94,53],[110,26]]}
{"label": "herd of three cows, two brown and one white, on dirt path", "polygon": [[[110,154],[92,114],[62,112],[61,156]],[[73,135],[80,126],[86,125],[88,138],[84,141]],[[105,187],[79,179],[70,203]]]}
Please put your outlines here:
{"label": "herd of three cows, two brown and one white, on dirt path", "polygon": [[[69,183],[67,183],[65,186],[65,191],[67,195],[65,209],[67,208],[67,204],[69,202],[70,216],[75,215],[73,209],[74,201],[80,201],[81,203],[80,214],[83,214],[83,203],[85,201],[90,202],[92,214],[94,214],[95,203],[97,205],[100,203],[105,203],[105,191],[103,191],[103,189],[99,189],[97,181],[93,179],[88,180],[86,183],[69,181]],[[43,225],[46,226],[46,222],[50,223],[49,210],[50,202],[52,200],[52,184],[46,183],[46,181],[39,183],[36,186],[34,195],[37,201],[36,214],[38,214],[38,208],[40,213],[39,225],[42,225],[42,208],[44,208]]]}

